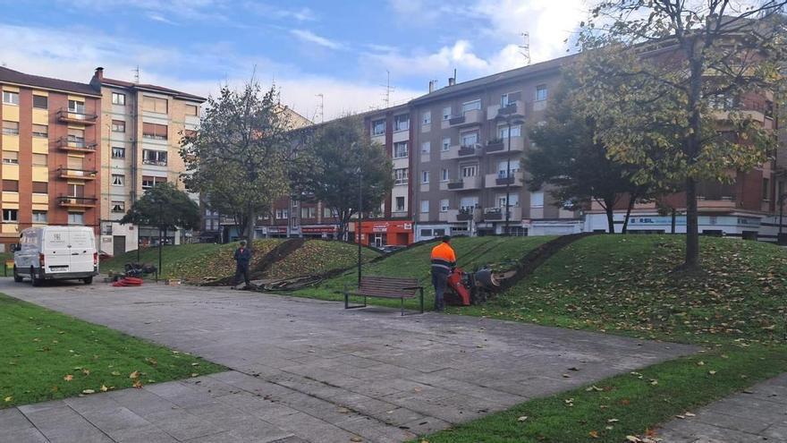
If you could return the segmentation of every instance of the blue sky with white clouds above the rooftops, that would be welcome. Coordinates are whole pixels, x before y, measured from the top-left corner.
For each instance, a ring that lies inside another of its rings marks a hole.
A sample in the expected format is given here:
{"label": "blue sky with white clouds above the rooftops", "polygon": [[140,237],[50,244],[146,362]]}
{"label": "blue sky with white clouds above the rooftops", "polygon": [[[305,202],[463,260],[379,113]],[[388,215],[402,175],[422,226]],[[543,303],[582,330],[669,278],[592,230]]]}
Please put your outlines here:
{"label": "blue sky with white clouds above the rooftops", "polygon": [[[325,120],[565,55],[586,0],[0,0],[0,64],[105,76],[207,97],[252,75]],[[389,80],[390,79],[390,80]],[[390,83],[389,83],[390,82]],[[322,98],[317,97],[322,94]]]}

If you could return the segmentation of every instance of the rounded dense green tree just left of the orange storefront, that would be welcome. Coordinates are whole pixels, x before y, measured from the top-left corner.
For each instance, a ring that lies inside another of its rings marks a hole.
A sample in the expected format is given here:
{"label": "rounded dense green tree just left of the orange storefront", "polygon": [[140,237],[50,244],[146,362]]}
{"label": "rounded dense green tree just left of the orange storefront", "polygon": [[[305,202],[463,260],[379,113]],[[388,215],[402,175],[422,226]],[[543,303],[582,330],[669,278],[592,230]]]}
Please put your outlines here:
{"label": "rounded dense green tree just left of the orange storefront", "polygon": [[[304,132],[293,189],[300,200],[322,201],[345,238],[358,213],[359,180],[364,212],[380,207],[393,186],[393,163],[385,148],[371,141],[360,117],[348,116]],[[360,240],[359,240],[360,241]]]}

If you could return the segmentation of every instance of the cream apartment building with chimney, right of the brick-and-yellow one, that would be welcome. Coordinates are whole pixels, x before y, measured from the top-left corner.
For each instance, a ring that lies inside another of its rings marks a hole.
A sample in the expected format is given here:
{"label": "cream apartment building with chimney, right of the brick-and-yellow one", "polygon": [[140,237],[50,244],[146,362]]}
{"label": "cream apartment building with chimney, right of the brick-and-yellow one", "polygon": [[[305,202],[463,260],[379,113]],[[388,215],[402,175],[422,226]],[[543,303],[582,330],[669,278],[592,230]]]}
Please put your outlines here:
{"label": "cream apartment building with chimney, right of the brick-and-yellow one", "polygon": [[[100,249],[119,254],[158,242],[158,230],[118,223],[134,200],[156,183],[177,183],[185,166],[179,154],[183,135],[199,126],[205,98],[151,84],[104,76],[97,68],[91,81],[101,92],[99,151]],[[194,200],[198,197],[193,196]],[[168,233],[166,243],[181,243],[182,231]]]}

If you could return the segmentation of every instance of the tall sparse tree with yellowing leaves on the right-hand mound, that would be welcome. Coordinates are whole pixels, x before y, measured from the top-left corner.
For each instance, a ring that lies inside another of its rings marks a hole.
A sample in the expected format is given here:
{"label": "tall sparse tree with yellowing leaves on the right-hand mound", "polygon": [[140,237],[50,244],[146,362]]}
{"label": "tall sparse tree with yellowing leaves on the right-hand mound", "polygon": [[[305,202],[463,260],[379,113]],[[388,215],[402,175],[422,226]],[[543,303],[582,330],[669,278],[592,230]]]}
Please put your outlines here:
{"label": "tall sparse tree with yellowing leaves on the right-hand mound", "polygon": [[[771,131],[745,111],[781,81],[784,1],[603,1],[583,23],[578,91],[597,138],[635,181],[684,183],[686,256],[699,266],[697,186],[762,164]],[[717,111],[724,111],[721,114]],[[660,175],[661,178],[656,177]]]}

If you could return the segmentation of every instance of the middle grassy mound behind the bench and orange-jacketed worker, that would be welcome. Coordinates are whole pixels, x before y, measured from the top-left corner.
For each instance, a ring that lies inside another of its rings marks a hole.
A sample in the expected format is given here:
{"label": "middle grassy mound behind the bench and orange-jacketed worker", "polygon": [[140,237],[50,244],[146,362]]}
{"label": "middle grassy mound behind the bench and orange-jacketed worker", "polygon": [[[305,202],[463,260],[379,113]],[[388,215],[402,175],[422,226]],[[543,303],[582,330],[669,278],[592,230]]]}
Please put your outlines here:
{"label": "middle grassy mound behind the bench and orange-jacketed worker", "polygon": [[[533,248],[546,243],[554,237],[460,237],[451,242],[456,251],[457,264],[466,270],[473,270],[482,265],[498,264],[505,268],[505,262],[519,260]],[[385,277],[416,277],[425,287],[425,304],[431,306],[434,301],[434,289],[431,287],[429,275],[429,254],[436,243],[426,243],[410,249],[399,251],[391,257],[368,263],[363,266],[362,273],[367,276]],[[356,281],[357,271],[351,269],[339,277],[331,278],[316,287],[296,291],[294,295],[315,297],[324,300],[343,299],[344,285],[352,285]],[[370,303],[394,306],[399,301],[385,299],[368,299]],[[405,303],[410,309],[418,306],[418,301]]]}

